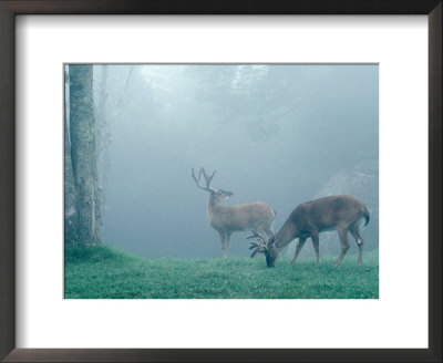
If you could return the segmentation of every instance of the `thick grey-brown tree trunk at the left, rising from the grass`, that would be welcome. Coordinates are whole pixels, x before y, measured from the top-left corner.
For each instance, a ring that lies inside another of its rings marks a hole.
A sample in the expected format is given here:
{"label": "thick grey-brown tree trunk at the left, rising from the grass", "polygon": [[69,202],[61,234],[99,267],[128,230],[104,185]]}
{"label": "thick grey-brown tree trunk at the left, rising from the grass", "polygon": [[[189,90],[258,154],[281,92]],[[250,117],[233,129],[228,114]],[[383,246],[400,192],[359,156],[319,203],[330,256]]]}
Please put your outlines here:
{"label": "thick grey-brown tree trunk at the left, rising from the grass", "polygon": [[75,243],[100,243],[100,196],[92,65],[69,66],[70,141],[75,185]]}

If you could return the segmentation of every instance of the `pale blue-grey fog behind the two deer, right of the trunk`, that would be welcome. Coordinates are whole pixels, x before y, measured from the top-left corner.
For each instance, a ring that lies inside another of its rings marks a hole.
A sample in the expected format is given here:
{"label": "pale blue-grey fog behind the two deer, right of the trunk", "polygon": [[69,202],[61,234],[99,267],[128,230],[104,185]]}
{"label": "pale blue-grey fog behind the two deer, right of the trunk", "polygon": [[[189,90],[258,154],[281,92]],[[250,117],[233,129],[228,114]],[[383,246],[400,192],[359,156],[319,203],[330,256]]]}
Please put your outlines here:
{"label": "pale blue-grey fog behind the two deer, right of the trunk", "polygon": [[[103,242],[220,257],[208,193],[190,177],[204,166],[234,193],[223,205],[271,205],[276,231],[298,204],[351,194],[371,212],[365,251],[377,249],[378,90],[373,64],[94,65]],[[228,256],[249,256],[247,236],[233,235]],[[339,250],[337,234],[320,235],[322,256]],[[312,255],[308,241],[300,256]]]}

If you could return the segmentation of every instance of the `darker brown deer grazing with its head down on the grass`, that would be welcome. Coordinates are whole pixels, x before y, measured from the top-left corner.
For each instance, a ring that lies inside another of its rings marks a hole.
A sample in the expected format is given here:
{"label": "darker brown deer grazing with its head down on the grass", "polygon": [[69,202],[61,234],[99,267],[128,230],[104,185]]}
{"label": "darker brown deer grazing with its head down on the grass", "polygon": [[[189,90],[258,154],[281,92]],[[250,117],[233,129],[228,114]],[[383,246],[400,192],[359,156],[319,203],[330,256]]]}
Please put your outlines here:
{"label": "darker brown deer grazing with its head down on the grass", "polygon": [[317,263],[320,263],[319,234],[337,229],[341,252],[334,266],[340,266],[349,249],[348,232],[351,232],[357,241],[359,247],[358,266],[361,266],[363,238],[360,235],[359,226],[363,218],[364,226],[367,226],[370,219],[367,206],[349,195],[329,196],[302,203],[292,210],[281,229],[272,238],[267,239],[261,232],[253,230],[253,236],[247,237],[255,239],[249,246],[249,249],[253,250],[250,257],[264,253],[267,266],[272,268],[281,249],[298,238],[296,253],[291,260],[291,265],[293,265],[306,240],[311,238]]}

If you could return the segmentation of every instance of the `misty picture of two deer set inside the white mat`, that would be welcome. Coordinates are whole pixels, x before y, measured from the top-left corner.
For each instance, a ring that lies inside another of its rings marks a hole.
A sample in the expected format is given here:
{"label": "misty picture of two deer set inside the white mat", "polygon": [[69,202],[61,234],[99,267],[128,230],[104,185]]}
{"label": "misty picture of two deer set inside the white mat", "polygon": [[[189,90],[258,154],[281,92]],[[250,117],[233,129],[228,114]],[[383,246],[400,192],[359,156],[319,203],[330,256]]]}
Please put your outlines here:
{"label": "misty picture of two deer set inside the white mat", "polygon": [[378,65],[65,65],[64,261],[65,298],[377,299]]}

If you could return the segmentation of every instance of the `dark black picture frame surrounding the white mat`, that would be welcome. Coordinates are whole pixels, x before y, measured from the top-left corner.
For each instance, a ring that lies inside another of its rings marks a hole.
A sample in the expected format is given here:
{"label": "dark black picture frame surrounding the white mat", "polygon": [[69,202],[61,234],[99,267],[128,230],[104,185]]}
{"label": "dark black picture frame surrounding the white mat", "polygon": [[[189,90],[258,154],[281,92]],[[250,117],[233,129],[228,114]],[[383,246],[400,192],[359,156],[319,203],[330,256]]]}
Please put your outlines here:
{"label": "dark black picture frame surrounding the white mat", "polygon": [[[4,362],[442,362],[442,0],[0,0],[0,359]],[[429,349],[16,349],[14,19],[18,14],[426,14]]]}

